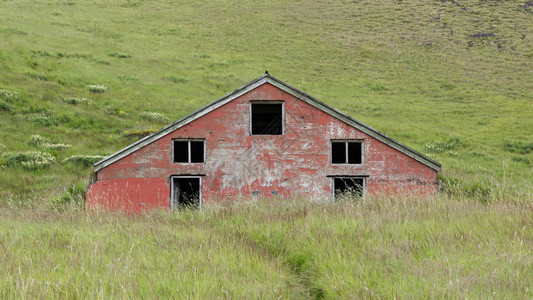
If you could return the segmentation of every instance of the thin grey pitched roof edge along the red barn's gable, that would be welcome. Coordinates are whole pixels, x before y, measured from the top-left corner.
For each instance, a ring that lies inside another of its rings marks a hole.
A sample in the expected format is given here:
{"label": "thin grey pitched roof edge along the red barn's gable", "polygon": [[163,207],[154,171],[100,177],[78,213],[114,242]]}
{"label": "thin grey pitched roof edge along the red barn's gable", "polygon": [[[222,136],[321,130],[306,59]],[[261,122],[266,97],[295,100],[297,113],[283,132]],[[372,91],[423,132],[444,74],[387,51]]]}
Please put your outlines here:
{"label": "thin grey pitched roof edge along the red barn's gable", "polygon": [[305,92],[277,79],[276,77],[265,73],[264,75],[262,75],[261,77],[257,78],[257,79],[254,79],[252,80],[251,82],[243,85],[242,87],[234,90],[233,92],[211,102],[210,104],[200,108],[199,110],[191,113],[190,115],[188,116],[185,116],[179,120],[177,120],[176,122],[172,123],[172,124],[169,124],[168,126],[162,128],[161,130],[153,133],[152,135],[149,135],[141,140],[138,140],[137,142],[109,155],[108,157],[100,160],[99,162],[95,163],[94,164],[94,171],[97,172],[107,166],[109,166],[110,164],[118,161],[119,159],[129,155],[130,153],[133,153],[135,151],[137,151],[138,149],[164,137],[165,135],[175,131],[176,129],[200,118],[201,116],[203,115],[206,115],[208,114],[209,112],[221,107],[222,105],[232,101],[233,99],[237,98],[237,97],[240,97],[241,95],[265,84],[265,83],[269,83],[289,94],[291,94],[292,96],[306,102],[307,104],[311,105],[311,106],[314,106],[315,108],[317,109],[320,109],[321,111],[347,123],[348,125],[351,125],[355,128],[357,128],[358,130],[368,134],[369,136],[389,145],[390,147],[402,152],[403,154],[415,159],[416,161],[419,161],[421,163],[423,163],[424,165],[432,168],[433,170],[439,172],[440,171],[440,167],[441,165],[424,156],[423,154],[401,144],[400,142],[386,136],[385,134],[373,129],[372,127],[370,126],[367,126],[355,119],[353,119],[352,117],[334,109],[333,107],[325,104],[324,102],[316,99],[316,98],[313,98],[312,96],[306,94]]}

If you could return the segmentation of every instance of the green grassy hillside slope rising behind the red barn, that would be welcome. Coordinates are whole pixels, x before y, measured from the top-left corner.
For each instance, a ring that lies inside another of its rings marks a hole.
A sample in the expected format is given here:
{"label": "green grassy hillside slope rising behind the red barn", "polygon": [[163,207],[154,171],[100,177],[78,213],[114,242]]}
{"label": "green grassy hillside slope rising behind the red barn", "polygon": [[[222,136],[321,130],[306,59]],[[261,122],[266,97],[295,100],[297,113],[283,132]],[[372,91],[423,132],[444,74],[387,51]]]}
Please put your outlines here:
{"label": "green grassy hillside slope rising behind the red barn", "polygon": [[86,155],[265,70],[445,176],[531,188],[531,1],[37,0],[3,1],[0,16],[3,203],[86,182]]}

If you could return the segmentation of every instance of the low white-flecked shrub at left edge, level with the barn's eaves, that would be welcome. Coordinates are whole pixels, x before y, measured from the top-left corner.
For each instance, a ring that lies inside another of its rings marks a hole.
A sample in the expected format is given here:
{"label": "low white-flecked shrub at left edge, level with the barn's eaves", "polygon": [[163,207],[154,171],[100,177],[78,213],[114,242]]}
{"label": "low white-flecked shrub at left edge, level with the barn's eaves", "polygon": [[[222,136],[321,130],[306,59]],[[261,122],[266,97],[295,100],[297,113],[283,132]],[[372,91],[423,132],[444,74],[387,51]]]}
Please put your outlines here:
{"label": "low white-flecked shrub at left edge, level with the barn's eaves", "polygon": [[54,157],[46,152],[28,151],[5,153],[0,159],[0,166],[10,168],[22,167],[27,170],[38,170],[49,167],[54,160]]}

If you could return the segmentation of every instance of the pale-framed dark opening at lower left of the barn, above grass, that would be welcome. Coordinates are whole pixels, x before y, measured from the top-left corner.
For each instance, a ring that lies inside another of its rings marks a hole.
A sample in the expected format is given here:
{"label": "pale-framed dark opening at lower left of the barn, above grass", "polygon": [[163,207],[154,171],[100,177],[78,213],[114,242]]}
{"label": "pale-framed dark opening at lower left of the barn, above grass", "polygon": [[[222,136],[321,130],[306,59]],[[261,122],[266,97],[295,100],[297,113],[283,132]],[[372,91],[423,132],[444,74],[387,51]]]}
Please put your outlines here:
{"label": "pale-framed dark opening at lower left of the barn, above grass", "polygon": [[199,208],[200,207],[200,178],[172,179],[174,194],[172,204],[175,208]]}

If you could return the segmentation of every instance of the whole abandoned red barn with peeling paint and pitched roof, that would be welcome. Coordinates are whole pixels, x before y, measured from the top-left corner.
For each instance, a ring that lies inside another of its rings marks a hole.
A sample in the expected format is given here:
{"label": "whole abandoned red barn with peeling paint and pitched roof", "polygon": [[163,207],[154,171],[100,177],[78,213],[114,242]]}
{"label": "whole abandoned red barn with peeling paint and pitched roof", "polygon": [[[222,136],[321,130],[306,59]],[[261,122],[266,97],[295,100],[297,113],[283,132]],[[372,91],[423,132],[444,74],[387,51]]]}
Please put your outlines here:
{"label": "whole abandoned red barn with peeling paint and pitched roof", "polygon": [[437,188],[440,164],[265,73],[94,165],[87,207]]}

